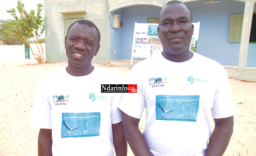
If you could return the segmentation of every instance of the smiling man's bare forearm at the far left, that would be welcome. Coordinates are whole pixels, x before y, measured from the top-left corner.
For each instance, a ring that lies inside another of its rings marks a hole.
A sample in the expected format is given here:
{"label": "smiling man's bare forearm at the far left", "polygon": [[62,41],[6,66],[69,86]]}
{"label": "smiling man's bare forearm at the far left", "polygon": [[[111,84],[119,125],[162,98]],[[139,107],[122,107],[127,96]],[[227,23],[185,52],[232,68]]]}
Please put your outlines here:
{"label": "smiling man's bare forearm at the far left", "polygon": [[38,134],[38,156],[52,156],[52,129],[41,129]]}

